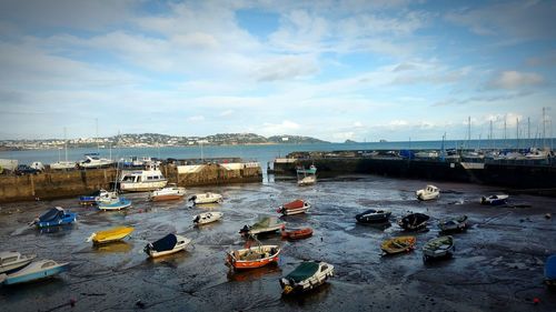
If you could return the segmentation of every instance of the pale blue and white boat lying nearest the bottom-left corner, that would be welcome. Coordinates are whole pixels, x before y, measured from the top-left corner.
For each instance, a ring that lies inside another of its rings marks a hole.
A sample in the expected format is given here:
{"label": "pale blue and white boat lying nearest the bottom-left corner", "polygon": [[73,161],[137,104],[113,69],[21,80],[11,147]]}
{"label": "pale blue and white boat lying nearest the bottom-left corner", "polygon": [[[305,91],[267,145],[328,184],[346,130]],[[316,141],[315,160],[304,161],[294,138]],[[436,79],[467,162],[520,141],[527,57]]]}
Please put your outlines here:
{"label": "pale blue and white boat lying nearest the bottom-left corner", "polygon": [[66,271],[69,263],[57,263],[53,260],[39,260],[24,266],[23,269],[6,275],[3,281],[7,285],[32,282],[53,276]]}

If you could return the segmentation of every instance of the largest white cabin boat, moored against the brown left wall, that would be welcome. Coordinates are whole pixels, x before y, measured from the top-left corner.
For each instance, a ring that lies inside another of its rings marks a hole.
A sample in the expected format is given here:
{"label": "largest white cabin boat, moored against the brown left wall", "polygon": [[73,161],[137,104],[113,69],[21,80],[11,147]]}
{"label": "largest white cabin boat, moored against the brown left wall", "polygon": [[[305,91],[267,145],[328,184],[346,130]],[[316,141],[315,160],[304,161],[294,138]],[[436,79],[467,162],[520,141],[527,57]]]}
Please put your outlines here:
{"label": "largest white cabin boat, moored against the brown left wall", "polygon": [[123,171],[119,183],[121,191],[145,192],[166,187],[168,180],[158,165],[152,163],[146,170]]}

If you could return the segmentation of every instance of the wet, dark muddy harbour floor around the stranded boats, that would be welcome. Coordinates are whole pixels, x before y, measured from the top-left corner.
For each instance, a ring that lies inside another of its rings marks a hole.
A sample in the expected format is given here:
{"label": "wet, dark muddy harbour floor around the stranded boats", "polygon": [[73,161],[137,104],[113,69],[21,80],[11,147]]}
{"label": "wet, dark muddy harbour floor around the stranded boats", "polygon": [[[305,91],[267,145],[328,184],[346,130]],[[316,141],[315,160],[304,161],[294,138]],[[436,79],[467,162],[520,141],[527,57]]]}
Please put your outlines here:
{"label": "wet, dark muddy harbour floor around the stranded boats", "polygon": [[[294,181],[189,189],[216,191],[220,205],[189,208],[186,201],[150,203],[146,193],[128,194],[133,208],[99,212],[76,199],[2,204],[0,250],[36,253],[69,261],[70,270],[41,282],[0,286],[1,311],[556,311],[556,292],[543,284],[546,256],[556,253],[556,199],[514,195],[510,203],[528,208],[483,207],[478,198],[500,190],[475,184],[435,182],[437,201],[418,202],[414,192],[426,181],[375,175],[320,180],[298,188]],[[310,239],[282,245],[277,266],[232,273],[225,252],[240,248],[238,230],[296,198],[309,200],[308,214],[282,218],[288,228],[309,225]],[[79,213],[78,223],[37,230],[27,223],[53,205]],[[369,208],[390,209],[391,225],[366,227],[355,214]],[[217,210],[224,220],[196,229],[195,214]],[[384,239],[406,234],[395,223],[408,211],[431,217],[429,231],[416,233],[417,249],[381,256]],[[466,214],[470,229],[454,234],[450,260],[425,264],[420,248],[439,234],[436,223]],[[113,225],[136,228],[125,242],[93,248],[85,240]],[[149,260],[148,241],[168,232],[192,239],[186,252]],[[278,283],[304,260],[322,260],[336,268],[329,283],[296,298],[282,298]],[[533,299],[538,298],[538,304]],[[69,305],[75,300],[75,306]],[[138,303],[140,302],[140,303]]]}

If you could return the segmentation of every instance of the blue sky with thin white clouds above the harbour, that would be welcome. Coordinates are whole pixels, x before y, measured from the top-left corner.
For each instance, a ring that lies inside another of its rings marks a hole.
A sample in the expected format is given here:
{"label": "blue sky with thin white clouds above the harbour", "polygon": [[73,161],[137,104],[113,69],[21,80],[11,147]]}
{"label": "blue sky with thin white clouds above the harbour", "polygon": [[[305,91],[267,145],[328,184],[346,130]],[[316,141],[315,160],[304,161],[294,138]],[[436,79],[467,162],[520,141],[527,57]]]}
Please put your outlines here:
{"label": "blue sky with thin white clouds above the harbour", "polygon": [[556,1],[526,0],[1,0],[0,139],[97,122],[100,137],[548,137],[554,17]]}

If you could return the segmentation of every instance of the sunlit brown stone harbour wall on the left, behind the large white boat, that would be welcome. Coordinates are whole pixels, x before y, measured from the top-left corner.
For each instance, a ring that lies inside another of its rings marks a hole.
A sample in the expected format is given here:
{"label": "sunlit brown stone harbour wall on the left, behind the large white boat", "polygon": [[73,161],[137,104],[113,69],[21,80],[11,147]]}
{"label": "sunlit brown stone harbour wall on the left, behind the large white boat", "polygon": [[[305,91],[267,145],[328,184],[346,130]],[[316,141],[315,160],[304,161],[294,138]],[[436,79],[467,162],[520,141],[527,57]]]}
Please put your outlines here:
{"label": "sunlit brown stone harbour wall on the left, behind the large white boat", "polygon": [[[261,182],[258,163],[241,163],[232,169],[220,164],[202,164],[197,170],[178,172],[178,165],[161,165],[169,183],[180,187],[221,185]],[[0,175],[0,202],[78,197],[113,185],[116,169],[70,170],[28,175]]]}

